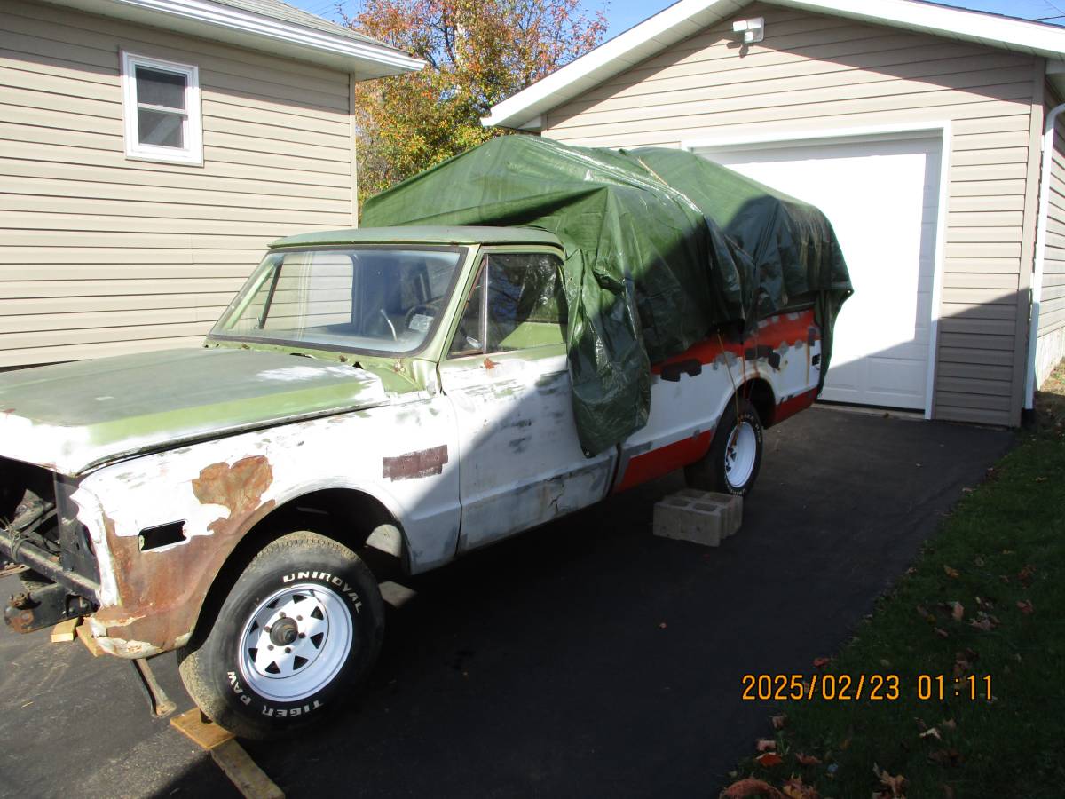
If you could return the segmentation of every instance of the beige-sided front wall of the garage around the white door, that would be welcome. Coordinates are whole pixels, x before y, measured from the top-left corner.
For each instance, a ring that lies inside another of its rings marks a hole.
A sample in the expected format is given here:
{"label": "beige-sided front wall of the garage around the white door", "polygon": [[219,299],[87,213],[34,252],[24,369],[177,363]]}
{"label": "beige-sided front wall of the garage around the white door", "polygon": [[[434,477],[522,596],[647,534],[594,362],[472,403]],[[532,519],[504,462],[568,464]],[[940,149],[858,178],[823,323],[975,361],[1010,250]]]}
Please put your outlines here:
{"label": "beige-sided front wall of the garage around the white door", "polygon": [[[758,16],[765,40],[740,47],[733,21]],[[759,3],[554,109],[543,134],[679,147],[950,121],[933,415],[1012,425],[1025,381],[1043,80],[1032,56]]]}

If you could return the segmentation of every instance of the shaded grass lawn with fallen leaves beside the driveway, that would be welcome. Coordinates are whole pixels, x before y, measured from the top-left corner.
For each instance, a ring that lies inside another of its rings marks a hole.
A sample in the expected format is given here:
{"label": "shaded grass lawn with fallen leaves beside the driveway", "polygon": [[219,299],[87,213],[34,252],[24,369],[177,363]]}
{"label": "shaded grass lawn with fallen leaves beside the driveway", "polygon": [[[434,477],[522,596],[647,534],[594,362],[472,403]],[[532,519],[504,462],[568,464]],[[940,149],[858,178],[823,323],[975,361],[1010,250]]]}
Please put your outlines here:
{"label": "shaded grass lawn with fallen leaves beside the driveway", "polygon": [[[810,665],[794,690],[814,699],[779,702],[722,797],[1065,796],[1065,363],[1045,389],[1035,426]],[[887,681],[870,701],[873,674],[898,675],[898,699]],[[841,675],[851,695],[865,675],[863,699],[818,699]]]}

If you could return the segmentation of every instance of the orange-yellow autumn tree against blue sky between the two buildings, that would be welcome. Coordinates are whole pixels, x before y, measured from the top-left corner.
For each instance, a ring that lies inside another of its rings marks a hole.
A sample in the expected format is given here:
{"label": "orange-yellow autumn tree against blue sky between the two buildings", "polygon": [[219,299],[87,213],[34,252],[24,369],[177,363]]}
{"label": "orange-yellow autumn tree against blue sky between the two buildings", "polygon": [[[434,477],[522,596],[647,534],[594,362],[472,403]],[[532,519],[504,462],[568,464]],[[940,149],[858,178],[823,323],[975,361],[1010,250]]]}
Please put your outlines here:
{"label": "orange-yellow autumn tree against blue sky between the two buildings", "polygon": [[580,0],[364,0],[360,33],[424,59],[421,72],[359,83],[359,199],[505,131],[496,102],[591,50],[605,13]]}

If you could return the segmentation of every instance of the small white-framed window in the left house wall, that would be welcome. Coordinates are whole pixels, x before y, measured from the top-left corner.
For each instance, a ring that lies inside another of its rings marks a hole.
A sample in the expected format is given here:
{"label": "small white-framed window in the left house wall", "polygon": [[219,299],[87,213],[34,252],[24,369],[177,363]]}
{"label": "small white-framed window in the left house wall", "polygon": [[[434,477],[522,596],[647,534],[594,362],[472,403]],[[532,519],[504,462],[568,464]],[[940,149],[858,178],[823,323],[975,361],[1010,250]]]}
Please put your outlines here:
{"label": "small white-framed window in the left house wall", "polygon": [[124,52],[122,114],[128,158],[203,163],[195,66]]}

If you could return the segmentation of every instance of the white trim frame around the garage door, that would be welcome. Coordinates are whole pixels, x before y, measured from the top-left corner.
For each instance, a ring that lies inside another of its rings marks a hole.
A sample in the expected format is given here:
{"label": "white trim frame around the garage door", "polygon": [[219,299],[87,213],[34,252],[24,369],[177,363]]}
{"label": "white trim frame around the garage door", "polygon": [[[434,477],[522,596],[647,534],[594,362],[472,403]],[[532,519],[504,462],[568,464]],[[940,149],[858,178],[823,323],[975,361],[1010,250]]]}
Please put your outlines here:
{"label": "white trim frame around the garage door", "polygon": [[939,343],[939,306],[943,296],[943,273],[946,260],[947,212],[950,196],[950,120],[906,125],[874,125],[865,127],[821,128],[816,130],[774,131],[765,134],[722,134],[681,142],[681,149],[706,153],[712,150],[735,150],[743,147],[783,149],[790,144],[832,145],[835,142],[858,143],[891,141],[917,136],[939,137],[939,200],[936,209],[936,239],[932,265],[932,301],[929,309],[928,391],[924,396],[924,418],[932,418],[935,407],[935,377]]}

